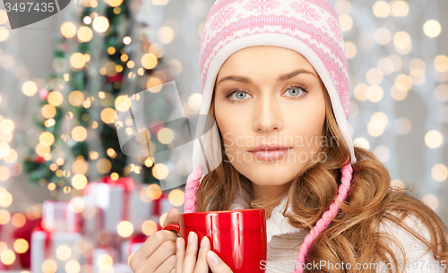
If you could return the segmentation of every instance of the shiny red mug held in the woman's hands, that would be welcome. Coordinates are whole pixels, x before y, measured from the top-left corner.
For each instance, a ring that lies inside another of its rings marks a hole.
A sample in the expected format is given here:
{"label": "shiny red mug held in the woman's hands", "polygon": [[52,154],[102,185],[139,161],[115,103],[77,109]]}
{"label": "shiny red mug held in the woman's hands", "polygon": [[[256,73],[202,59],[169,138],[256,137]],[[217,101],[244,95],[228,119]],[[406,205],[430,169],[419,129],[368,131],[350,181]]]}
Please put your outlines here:
{"label": "shiny red mug held in the woman's hands", "polygon": [[[190,231],[198,235],[198,252],[203,236],[234,273],[265,272],[262,261],[267,256],[264,209],[229,209],[182,213],[179,223],[163,227],[187,241]],[[263,269],[262,269],[263,268]],[[211,270],[209,269],[209,272]]]}

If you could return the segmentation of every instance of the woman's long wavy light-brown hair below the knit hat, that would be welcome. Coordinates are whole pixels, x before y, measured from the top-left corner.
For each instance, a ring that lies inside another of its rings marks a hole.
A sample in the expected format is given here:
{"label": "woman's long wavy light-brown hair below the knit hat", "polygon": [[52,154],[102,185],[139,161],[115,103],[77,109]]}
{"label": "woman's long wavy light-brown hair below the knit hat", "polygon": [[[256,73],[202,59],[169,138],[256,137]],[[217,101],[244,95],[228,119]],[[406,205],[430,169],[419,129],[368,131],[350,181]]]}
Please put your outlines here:
{"label": "woman's long wavy light-brown hair below the knit hat", "polygon": [[[282,212],[283,216],[288,218],[291,226],[311,230],[335,200],[340,186],[340,168],[344,159],[349,158],[350,161],[351,158],[349,147],[336,123],[328,92],[324,90],[324,93],[326,115],[323,135],[327,139],[332,137],[339,140],[338,145],[322,147],[321,151],[327,156],[325,160],[314,158],[310,161],[289,182],[288,190],[280,192],[276,198],[263,202],[253,200],[252,182],[229,163],[220,134],[223,161],[211,173],[203,176],[197,191],[197,211],[230,209],[238,191],[246,203],[251,203],[252,208],[271,207],[288,195],[287,208]],[[214,92],[209,115],[215,117]],[[386,263],[393,262],[394,272],[399,272],[401,260],[399,262],[396,253],[392,252],[391,243],[396,243],[401,249],[402,257],[405,257],[400,243],[389,235],[378,233],[380,223],[388,219],[424,243],[429,251],[433,252],[435,260],[448,263],[448,227],[434,210],[418,200],[412,188],[391,187],[386,167],[373,153],[355,147],[355,156],[357,163],[352,166],[353,177],[347,200],[340,205],[340,212],[330,226],[314,240],[306,256],[306,262],[318,263],[319,260],[326,260],[326,264],[341,264],[341,262],[370,264],[383,260]],[[292,213],[285,215],[288,206],[291,206]],[[399,217],[395,212],[399,213]],[[403,222],[409,213],[426,226],[430,234],[429,241]],[[268,211],[266,217],[270,217]],[[403,262],[406,263],[406,260]],[[344,272],[344,269],[321,268],[318,271]],[[388,271],[392,272],[392,269]],[[308,269],[306,272],[314,270]],[[369,270],[360,269],[358,272]]]}

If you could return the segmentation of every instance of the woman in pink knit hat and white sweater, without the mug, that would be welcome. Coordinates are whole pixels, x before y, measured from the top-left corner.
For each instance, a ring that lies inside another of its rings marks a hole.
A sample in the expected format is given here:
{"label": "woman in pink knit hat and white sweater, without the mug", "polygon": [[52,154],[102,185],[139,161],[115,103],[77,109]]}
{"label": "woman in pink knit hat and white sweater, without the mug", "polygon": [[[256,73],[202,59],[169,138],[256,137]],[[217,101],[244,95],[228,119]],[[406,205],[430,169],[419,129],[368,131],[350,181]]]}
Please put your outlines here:
{"label": "woman in pink knit hat and white sweater, without the mug", "polygon": [[[208,133],[195,143],[185,212],[264,208],[266,272],[448,271],[441,219],[353,146],[347,60],[328,1],[219,0],[200,60],[200,114],[216,119],[220,141]],[[165,225],[177,218],[171,210]],[[131,267],[231,272],[204,238],[198,250],[194,233],[185,243],[159,231]]]}

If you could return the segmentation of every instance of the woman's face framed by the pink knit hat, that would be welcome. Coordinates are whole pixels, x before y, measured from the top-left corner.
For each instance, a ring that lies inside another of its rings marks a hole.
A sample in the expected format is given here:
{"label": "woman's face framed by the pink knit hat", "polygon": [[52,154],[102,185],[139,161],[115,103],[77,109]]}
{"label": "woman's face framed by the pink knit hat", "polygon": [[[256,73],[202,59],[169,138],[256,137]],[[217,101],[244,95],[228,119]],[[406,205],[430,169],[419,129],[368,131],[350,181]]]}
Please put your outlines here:
{"label": "woman's face framed by the pink knit hat", "polygon": [[[288,183],[319,153],[323,82],[303,55],[246,47],[228,57],[215,84],[215,117],[228,160],[256,185]],[[286,149],[264,157],[252,152],[263,143]]]}

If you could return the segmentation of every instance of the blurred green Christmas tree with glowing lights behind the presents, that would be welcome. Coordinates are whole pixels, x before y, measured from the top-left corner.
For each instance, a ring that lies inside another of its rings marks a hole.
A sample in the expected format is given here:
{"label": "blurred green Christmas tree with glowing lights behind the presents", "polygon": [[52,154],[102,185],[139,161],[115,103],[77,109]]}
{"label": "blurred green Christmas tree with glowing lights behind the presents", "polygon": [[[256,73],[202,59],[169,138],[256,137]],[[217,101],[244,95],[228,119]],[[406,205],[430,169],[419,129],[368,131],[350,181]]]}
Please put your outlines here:
{"label": "blurred green Christmas tree with glowing lights behind the presents", "polygon": [[[23,162],[31,182],[65,193],[102,176],[134,175],[143,183],[159,183],[151,172],[153,158],[126,157],[115,127],[121,102],[172,81],[163,47],[151,43],[149,26],[135,20],[141,8],[132,0],[82,0],[73,20],[60,26],[55,72],[39,90],[40,111],[34,116],[42,132]],[[164,109],[155,104],[153,111]]]}

